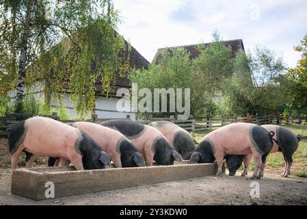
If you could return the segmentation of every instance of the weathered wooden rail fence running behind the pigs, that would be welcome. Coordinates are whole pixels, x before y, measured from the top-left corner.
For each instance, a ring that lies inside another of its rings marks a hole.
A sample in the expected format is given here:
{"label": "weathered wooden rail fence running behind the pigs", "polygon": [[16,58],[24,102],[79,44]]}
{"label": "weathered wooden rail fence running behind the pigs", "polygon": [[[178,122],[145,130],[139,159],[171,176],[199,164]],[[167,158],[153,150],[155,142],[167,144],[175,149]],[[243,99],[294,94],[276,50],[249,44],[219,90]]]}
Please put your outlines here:
{"label": "weathered wooden rail fence running behind the pigs", "polygon": [[[31,114],[6,114],[3,117],[0,117],[0,137],[8,137],[9,131],[18,123],[19,120],[25,120],[30,118]],[[59,120],[57,113],[53,113],[52,116],[46,116],[49,118],[53,118],[55,120]],[[104,120],[110,120],[111,118],[97,118],[97,115],[93,115],[91,120],[87,120],[92,123],[101,123]],[[127,115],[126,119],[130,119],[130,116]],[[211,130],[217,127],[222,127],[224,125],[228,125],[230,123],[254,123],[257,125],[264,124],[276,124],[276,125],[291,125],[291,124],[302,124],[307,122],[306,117],[291,117],[291,116],[281,116],[281,115],[267,115],[267,116],[222,116],[221,118],[209,118],[209,117],[201,117],[201,116],[191,116],[188,120],[176,120],[174,116],[170,116],[169,118],[154,118],[150,117],[148,120],[137,120],[137,122],[148,125],[152,123],[152,121],[157,120],[168,120],[179,127],[187,131],[204,131]],[[73,123],[76,120],[61,120],[63,123]]]}

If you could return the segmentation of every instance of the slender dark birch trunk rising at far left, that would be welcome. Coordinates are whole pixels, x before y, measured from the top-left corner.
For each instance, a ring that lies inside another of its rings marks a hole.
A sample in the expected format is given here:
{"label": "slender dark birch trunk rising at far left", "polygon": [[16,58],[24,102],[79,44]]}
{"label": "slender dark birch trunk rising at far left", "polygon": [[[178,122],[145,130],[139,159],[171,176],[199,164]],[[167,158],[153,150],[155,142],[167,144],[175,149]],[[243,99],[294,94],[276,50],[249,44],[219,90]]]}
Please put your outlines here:
{"label": "slender dark birch trunk rising at far left", "polygon": [[31,18],[31,1],[27,1],[25,28],[21,41],[21,56],[19,57],[18,83],[16,87],[15,112],[23,112],[23,98],[25,97],[25,73],[27,67],[27,46],[29,41],[29,23]]}

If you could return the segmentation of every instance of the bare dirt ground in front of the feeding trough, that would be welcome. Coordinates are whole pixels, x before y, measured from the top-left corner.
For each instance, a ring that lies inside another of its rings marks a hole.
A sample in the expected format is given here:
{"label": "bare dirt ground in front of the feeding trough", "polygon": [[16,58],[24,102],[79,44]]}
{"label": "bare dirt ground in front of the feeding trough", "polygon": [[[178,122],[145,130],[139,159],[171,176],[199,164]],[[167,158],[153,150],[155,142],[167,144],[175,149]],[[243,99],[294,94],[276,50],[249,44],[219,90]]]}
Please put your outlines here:
{"label": "bare dirt ground in front of the feeding trough", "polygon": [[[7,143],[0,141],[1,143],[3,145],[0,145],[0,156],[6,157]],[[38,166],[42,165],[34,164],[34,167]],[[32,201],[11,194],[9,167],[9,164],[0,167],[0,205],[307,205],[307,179],[293,176],[283,178],[280,176],[282,168],[267,167],[265,178],[256,180],[260,185],[260,198],[250,197],[252,180],[240,177],[241,171],[238,171],[235,177],[228,175],[200,177],[137,188]]]}

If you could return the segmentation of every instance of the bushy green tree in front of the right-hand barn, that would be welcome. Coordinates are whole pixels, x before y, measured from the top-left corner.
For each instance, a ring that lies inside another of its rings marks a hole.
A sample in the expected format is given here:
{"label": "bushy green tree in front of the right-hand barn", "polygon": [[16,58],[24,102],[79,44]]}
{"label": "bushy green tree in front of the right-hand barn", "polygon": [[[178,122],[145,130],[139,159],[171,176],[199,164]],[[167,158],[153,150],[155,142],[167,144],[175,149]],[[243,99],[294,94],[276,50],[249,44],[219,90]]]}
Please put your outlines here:
{"label": "bushy green tree in front of the right-hand barn", "polygon": [[[148,70],[133,70],[129,77],[138,88],[148,88],[152,92],[154,88],[190,88],[190,113],[214,115],[215,97],[222,89],[224,78],[232,73],[231,49],[215,38],[209,47],[200,44],[198,53],[192,60],[183,48],[166,49],[157,55]],[[169,112],[155,114],[169,115]]]}

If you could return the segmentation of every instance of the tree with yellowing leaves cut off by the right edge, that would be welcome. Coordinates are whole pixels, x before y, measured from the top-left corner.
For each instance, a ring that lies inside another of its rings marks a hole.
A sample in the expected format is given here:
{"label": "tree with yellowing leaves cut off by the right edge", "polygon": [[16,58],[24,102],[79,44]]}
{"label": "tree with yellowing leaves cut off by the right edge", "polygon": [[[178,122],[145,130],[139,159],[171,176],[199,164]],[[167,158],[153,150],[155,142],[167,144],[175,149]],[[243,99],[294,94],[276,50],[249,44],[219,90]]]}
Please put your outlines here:
{"label": "tree with yellowing leaves cut off by the right edge", "polygon": [[289,92],[293,94],[289,110],[296,110],[298,114],[304,112],[307,115],[307,35],[294,49],[301,52],[302,56],[295,68],[287,69],[287,75],[294,83],[289,88]]}

